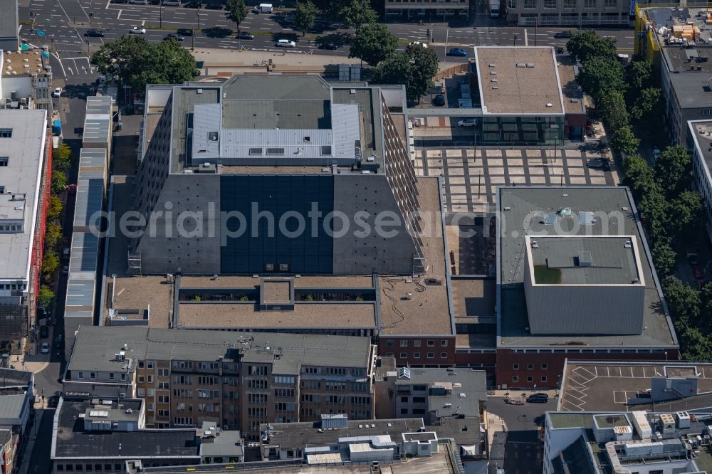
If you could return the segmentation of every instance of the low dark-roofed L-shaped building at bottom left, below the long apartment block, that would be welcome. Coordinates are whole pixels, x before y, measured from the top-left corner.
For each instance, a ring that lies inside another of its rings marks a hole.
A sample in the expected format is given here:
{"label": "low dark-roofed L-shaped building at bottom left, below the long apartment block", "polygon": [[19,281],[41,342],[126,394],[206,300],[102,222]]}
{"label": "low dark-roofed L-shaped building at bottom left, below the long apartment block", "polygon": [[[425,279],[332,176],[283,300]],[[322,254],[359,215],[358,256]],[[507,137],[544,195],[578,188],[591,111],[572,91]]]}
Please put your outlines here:
{"label": "low dark-roofed L-shaped building at bottom left, below the long apartment block", "polygon": [[155,467],[244,460],[239,431],[224,431],[215,423],[197,429],[147,428],[145,405],[141,399],[61,399],[54,414],[51,473],[124,474],[127,460]]}

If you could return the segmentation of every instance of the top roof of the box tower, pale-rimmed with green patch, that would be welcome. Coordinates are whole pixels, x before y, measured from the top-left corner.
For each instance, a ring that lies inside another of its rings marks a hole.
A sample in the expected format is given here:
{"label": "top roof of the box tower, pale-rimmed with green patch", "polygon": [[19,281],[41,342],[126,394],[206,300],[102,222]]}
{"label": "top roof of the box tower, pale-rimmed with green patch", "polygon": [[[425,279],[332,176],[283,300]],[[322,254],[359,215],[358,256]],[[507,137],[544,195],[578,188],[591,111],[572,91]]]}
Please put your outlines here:
{"label": "top roof of the box tower, pale-rimmed with green patch", "polygon": [[[638,282],[632,236],[532,236],[527,246],[538,285],[629,285]],[[631,242],[630,246],[627,243]]]}

